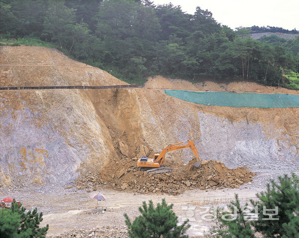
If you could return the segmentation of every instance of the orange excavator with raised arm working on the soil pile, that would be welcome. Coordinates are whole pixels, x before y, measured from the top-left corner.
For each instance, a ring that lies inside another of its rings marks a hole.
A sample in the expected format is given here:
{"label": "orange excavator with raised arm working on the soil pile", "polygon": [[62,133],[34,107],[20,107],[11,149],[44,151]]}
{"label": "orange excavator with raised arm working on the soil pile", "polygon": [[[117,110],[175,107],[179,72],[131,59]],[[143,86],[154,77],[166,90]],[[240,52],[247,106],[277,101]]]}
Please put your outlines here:
{"label": "orange excavator with raised arm working on the soil pile", "polygon": [[[183,144],[184,142],[188,143]],[[164,149],[162,149],[160,153],[154,154],[153,159],[142,156],[140,159],[138,159],[137,166],[140,171],[147,171],[148,174],[171,173],[172,168],[165,168],[165,166],[163,165],[165,155],[167,152],[183,148],[190,148],[193,151],[195,157],[197,158],[197,162],[194,164],[194,166],[198,167],[201,163],[201,159],[198,156],[197,148],[191,140],[168,145]]]}

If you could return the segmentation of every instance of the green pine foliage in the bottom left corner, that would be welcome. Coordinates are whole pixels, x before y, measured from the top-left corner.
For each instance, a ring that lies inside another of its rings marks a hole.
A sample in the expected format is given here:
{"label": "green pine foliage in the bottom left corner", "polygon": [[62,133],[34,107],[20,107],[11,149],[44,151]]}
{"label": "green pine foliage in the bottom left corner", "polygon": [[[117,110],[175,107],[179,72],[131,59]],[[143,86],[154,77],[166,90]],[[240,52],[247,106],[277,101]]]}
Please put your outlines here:
{"label": "green pine foliage in the bottom left corner", "polygon": [[10,209],[0,209],[0,234],[5,238],[45,238],[49,225],[39,228],[42,213],[37,208],[25,213],[26,208],[15,201]]}

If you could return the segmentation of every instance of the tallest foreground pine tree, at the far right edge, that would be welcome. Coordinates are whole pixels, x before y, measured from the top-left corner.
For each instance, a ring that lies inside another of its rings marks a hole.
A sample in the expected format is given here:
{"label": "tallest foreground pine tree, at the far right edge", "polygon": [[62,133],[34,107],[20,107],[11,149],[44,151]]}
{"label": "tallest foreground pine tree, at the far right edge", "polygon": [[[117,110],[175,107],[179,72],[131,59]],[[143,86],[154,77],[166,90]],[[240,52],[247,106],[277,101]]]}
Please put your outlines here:
{"label": "tallest foreground pine tree, at the far right edge", "polygon": [[267,185],[267,190],[257,194],[259,219],[253,223],[258,232],[266,237],[299,237],[299,190],[285,174]]}

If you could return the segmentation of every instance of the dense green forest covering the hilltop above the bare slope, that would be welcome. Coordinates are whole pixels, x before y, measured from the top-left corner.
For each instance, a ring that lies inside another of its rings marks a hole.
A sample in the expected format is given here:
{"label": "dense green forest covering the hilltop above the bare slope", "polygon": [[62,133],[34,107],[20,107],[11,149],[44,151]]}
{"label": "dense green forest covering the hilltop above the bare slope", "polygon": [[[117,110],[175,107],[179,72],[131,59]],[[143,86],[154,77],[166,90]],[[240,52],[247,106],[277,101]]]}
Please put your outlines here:
{"label": "dense green forest covering the hilltop above the bare slope", "polygon": [[128,83],[162,75],[298,90],[299,79],[291,82],[284,75],[299,71],[299,37],[250,37],[251,31],[263,30],[233,30],[200,6],[188,14],[180,6],[150,0],[0,1],[1,44],[51,45]]}

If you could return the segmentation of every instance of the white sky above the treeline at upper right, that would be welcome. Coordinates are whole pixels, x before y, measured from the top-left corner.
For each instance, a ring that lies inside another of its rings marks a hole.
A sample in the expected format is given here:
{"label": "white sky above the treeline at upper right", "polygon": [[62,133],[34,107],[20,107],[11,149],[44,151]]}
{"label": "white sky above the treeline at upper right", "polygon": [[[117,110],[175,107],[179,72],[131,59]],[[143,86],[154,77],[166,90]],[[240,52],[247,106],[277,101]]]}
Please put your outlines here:
{"label": "white sky above the treeline at upper right", "polygon": [[223,25],[236,27],[276,26],[299,30],[299,0],[152,0],[155,5],[171,2],[193,14],[196,6],[208,9]]}

